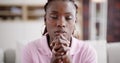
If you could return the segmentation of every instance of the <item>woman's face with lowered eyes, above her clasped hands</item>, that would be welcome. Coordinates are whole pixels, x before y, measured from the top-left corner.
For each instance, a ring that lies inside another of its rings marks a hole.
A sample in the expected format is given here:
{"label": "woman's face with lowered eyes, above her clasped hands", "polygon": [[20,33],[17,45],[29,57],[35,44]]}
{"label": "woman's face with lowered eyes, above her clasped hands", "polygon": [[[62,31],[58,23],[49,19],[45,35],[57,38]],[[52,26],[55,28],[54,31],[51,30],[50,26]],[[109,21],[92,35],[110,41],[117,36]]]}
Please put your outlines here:
{"label": "woman's face with lowered eyes, above her clasped hands", "polygon": [[76,8],[70,1],[53,1],[47,7],[45,19],[51,41],[61,34],[70,40],[76,21]]}

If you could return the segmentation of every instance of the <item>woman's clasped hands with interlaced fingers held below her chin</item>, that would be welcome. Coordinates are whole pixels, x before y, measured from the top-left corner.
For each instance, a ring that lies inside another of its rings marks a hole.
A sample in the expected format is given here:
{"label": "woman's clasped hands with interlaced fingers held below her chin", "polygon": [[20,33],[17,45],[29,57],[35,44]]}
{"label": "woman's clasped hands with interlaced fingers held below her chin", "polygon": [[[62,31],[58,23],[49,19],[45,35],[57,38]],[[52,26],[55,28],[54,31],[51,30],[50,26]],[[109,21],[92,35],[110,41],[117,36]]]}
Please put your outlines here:
{"label": "woman's clasped hands with interlaced fingers held below her chin", "polygon": [[70,57],[70,41],[63,35],[54,38],[50,47],[53,53],[51,63],[72,63]]}

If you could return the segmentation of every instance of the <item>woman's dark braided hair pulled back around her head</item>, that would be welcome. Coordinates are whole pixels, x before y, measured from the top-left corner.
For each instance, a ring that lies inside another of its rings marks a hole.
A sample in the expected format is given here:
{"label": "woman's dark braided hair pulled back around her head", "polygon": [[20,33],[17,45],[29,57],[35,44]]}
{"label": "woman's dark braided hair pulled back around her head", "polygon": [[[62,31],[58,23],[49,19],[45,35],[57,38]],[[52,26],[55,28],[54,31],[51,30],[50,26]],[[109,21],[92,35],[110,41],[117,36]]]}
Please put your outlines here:
{"label": "woman's dark braided hair pulled back around her head", "polygon": [[[51,2],[53,2],[53,1],[70,1],[70,2],[72,2],[73,5],[74,5],[75,8],[76,8],[76,13],[77,13],[78,6],[75,4],[75,0],[48,0],[48,2],[47,2],[47,3],[45,4],[45,6],[44,6],[45,12],[46,12],[47,7],[49,6],[49,4],[50,4]],[[45,18],[44,18],[44,20],[46,21]],[[45,27],[45,30],[44,30],[44,32],[43,32],[43,35],[45,35],[46,33],[47,33],[47,28]]]}

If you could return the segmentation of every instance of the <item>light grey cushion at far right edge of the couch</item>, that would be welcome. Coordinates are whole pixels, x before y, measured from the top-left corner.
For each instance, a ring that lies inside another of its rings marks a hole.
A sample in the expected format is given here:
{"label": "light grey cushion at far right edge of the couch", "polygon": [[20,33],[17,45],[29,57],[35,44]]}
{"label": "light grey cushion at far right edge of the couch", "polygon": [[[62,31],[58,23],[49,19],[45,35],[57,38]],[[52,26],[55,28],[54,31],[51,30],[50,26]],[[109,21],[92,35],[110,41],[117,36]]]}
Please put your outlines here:
{"label": "light grey cushion at far right edge of the couch", "polygon": [[120,63],[120,42],[107,45],[108,63]]}

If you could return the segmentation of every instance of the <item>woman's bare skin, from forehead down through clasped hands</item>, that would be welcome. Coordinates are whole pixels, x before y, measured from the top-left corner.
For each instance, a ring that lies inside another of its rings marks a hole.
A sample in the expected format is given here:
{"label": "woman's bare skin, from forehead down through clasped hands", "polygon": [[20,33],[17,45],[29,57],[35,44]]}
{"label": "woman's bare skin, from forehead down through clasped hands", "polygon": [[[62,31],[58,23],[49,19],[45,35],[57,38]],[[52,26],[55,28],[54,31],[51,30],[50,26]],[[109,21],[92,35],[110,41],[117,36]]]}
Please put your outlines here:
{"label": "woman's bare skin, from forehead down through clasped hands", "polygon": [[51,63],[72,62],[69,46],[75,22],[76,8],[72,2],[59,0],[49,3],[45,15],[45,24],[53,53]]}

